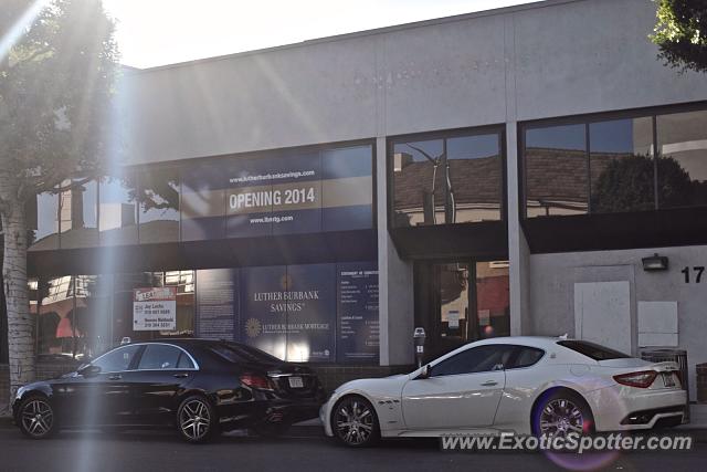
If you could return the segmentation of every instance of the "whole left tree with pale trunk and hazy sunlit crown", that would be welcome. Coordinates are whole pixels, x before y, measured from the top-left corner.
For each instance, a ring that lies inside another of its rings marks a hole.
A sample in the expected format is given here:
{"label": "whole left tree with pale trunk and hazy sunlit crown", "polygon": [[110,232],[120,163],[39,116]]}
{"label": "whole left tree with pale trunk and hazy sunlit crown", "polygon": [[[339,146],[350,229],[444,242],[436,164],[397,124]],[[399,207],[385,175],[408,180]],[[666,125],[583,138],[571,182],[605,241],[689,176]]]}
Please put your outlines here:
{"label": "whole left tree with pale trunk and hazy sunlit crown", "polygon": [[3,0],[0,9],[0,218],[10,389],[34,379],[25,204],[105,168],[117,71],[99,0]]}

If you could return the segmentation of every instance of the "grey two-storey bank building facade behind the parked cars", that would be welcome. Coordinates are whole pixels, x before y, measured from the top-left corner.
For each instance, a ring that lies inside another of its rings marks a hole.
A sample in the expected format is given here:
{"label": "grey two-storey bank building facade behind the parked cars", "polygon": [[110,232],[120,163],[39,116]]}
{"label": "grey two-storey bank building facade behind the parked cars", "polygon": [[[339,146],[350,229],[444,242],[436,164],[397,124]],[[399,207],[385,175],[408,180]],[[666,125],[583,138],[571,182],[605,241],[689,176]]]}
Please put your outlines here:
{"label": "grey two-storey bank building facade behind the parked cars", "polygon": [[707,81],[654,20],[549,0],[127,71],[115,175],[38,196],[40,360],[203,336],[335,386],[410,366],[422,326],[430,356],[567,333],[693,376]]}

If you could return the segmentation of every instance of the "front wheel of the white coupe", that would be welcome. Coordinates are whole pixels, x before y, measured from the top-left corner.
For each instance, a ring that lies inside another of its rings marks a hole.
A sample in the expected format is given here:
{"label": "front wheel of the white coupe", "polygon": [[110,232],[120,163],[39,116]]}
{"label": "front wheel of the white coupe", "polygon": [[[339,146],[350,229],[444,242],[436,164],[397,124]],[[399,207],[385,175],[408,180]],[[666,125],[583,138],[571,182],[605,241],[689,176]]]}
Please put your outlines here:
{"label": "front wheel of the white coupe", "polygon": [[359,396],[340,399],[331,410],[334,437],[350,448],[367,448],[380,439],[378,415],[370,401]]}

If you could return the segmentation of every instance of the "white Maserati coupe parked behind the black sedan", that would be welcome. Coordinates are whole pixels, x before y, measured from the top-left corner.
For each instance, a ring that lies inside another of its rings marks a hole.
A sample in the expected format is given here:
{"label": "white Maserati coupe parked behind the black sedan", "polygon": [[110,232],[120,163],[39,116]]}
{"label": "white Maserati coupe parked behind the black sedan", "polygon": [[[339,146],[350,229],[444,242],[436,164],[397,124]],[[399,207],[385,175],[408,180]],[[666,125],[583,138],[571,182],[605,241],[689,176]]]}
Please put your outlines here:
{"label": "white Maserati coupe parked behind the black sedan", "polygon": [[327,436],[591,433],[679,424],[675,363],[652,364],[584,340],[498,337],[467,344],[411,374],[359,379],[321,407]]}

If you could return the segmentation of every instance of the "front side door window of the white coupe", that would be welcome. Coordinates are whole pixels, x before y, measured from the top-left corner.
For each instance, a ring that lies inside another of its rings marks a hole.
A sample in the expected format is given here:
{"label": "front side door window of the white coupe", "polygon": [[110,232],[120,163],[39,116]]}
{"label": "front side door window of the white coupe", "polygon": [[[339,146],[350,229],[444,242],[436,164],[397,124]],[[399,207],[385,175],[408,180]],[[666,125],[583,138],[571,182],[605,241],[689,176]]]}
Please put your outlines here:
{"label": "front side door window of the white coupe", "polygon": [[503,369],[515,346],[490,344],[466,349],[432,367],[432,377],[485,373]]}

